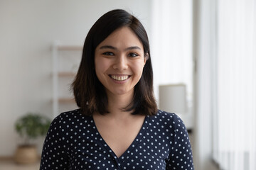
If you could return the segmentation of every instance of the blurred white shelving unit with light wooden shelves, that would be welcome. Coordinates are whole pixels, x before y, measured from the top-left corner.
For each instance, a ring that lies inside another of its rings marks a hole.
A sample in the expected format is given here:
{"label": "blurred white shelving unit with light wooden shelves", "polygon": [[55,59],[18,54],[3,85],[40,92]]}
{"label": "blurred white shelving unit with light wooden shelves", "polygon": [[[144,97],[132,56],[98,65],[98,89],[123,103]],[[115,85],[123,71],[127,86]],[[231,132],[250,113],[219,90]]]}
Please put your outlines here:
{"label": "blurred white shelving unit with light wooden shelves", "polygon": [[82,46],[53,44],[53,118],[77,108],[70,85],[78,71]]}

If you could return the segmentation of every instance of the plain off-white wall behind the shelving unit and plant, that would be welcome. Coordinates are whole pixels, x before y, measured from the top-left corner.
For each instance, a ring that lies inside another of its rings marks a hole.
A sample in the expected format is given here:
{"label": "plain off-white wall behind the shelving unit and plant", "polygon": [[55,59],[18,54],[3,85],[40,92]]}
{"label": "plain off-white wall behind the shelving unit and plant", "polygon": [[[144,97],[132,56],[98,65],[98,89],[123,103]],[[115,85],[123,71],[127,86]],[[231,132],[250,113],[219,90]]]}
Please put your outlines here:
{"label": "plain off-white wall behind the shelving unit and plant", "polygon": [[0,157],[14,153],[19,139],[14,122],[19,116],[28,111],[52,116],[53,41],[82,45],[97,18],[114,8],[134,13],[150,36],[150,4],[149,0],[0,1]]}

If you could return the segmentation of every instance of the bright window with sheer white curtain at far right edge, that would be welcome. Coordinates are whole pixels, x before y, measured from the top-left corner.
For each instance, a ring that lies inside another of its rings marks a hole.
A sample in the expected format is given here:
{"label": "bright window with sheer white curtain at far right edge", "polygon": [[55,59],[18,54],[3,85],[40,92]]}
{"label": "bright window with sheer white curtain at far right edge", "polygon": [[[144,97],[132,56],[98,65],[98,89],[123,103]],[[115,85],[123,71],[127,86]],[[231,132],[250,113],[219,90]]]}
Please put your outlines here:
{"label": "bright window with sheer white curtain at far right edge", "polygon": [[256,169],[256,1],[217,5],[213,157],[221,169]]}

